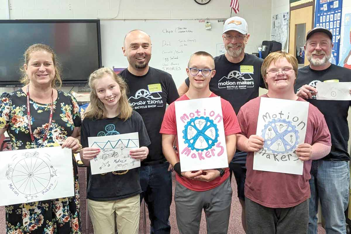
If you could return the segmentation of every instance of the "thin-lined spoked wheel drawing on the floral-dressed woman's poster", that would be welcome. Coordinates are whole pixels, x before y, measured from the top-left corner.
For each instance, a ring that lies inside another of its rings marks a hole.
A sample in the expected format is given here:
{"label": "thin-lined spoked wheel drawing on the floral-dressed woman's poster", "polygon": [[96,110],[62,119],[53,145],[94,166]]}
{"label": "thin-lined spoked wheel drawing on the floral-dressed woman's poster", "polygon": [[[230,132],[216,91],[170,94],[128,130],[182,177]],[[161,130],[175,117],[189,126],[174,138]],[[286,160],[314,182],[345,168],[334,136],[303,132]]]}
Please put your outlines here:
{"label": "thin-lined spoked wheel drawing on the floral-dressed woman's poster", "polygon": [[44,160],[36,156],[28,156],[13,167],[12,183],[20,193],[38,194],[49,185],[53,177],[52,168]]}

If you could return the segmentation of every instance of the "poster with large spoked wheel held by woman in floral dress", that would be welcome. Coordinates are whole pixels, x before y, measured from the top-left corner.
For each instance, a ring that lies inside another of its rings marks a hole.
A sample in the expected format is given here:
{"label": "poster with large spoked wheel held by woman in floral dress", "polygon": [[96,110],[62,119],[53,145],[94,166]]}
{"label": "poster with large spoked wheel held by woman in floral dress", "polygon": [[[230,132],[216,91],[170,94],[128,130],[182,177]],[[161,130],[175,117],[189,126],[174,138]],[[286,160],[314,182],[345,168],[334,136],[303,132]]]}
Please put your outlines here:
{"label": "poster with large spoked wheel held by woman in floral dress", "polygon": [[74,196],[71,149],[4,151],[0,159],[0,206]]}

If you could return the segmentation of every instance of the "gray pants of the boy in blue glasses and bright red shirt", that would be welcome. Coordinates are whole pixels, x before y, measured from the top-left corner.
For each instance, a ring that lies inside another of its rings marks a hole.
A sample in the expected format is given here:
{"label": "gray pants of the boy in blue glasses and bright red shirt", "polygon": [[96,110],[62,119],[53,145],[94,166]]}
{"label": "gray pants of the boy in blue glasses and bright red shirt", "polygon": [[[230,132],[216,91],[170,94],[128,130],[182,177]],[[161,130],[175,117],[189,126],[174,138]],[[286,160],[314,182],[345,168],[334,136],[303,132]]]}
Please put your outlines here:
{"label": "gray pants of the boy in blue glasses and bright red shirt", "polygon": [[203,192],[190,190],[177,182],[174,202],[180,234],[199,233],[202,209],[206,215],[207,234],[228,232],[232,202],[229,178],[220,186]]}

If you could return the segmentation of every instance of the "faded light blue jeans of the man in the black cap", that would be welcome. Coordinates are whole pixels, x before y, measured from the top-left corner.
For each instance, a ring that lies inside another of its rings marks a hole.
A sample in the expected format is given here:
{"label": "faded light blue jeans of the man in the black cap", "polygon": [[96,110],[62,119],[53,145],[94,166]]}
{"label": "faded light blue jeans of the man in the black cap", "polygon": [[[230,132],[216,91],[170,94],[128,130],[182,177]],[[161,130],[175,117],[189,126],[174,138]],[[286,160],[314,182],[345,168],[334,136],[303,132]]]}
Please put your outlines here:
{"label": "faded light blue jeans of the man in the black cap", "polygon": [[348,161],[315,160],[311,167],[309,234],[317,234],[318,198],[327,234],[346,234],[345,210],[349,205]]}

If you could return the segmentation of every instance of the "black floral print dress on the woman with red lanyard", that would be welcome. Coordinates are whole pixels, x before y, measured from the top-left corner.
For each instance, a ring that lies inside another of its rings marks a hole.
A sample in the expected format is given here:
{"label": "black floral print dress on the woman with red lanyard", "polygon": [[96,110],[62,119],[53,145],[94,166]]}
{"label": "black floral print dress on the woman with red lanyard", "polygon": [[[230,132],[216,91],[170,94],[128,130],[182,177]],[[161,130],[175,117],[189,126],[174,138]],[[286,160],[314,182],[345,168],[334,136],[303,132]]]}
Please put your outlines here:
{"label": "black floral print dress on the woman with red lanyard", "polygon": [[[69,93],[57,92],[58,96],[53,104],[53,119],[45,142],[42,138],[49,122],[51,103],[41,104],[29,99],[35,140],[32,142],[28,129],[26,93],[19,89],[1,95],[0,128],[7,128],[13,150],[59,146],[71,136],[74,127],[81,126],[75,98]],[[73,158],[72,161],[75,196],[6,206],[7,233],[81,233],[78,170]]]}

